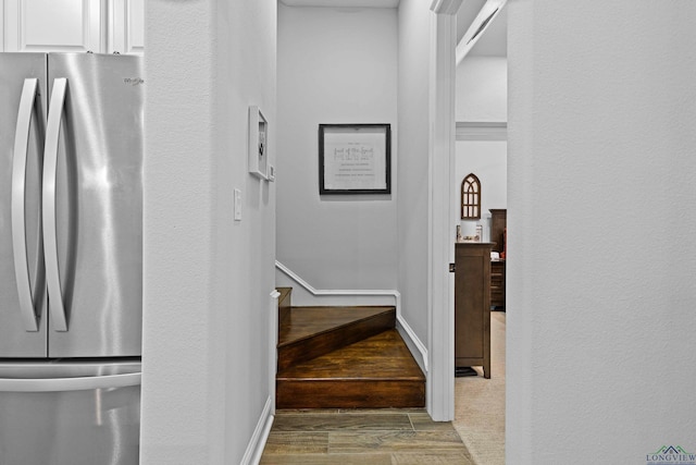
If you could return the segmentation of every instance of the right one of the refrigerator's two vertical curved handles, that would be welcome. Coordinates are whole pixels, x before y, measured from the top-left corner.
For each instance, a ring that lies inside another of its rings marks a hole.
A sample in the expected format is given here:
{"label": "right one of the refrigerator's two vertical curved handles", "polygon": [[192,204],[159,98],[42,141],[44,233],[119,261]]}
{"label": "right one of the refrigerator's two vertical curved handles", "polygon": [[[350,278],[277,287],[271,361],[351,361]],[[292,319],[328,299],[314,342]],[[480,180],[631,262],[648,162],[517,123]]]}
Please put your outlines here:
{"label": "right one of the refrigerator's two vertical curved handles", "polygon": [[46,281],[51,304],[51,316],[55,331],[67,331],[67,317],[61,293],[61,277],[58,267],[58,236],[55,227],[55,174],[58,172],[58,142],[63,119],[67,79],[53,79],[51,102],[46,125],[44,148],[44,186],[41,194],[41,219],[44,222],[44,250],[46,254]]}

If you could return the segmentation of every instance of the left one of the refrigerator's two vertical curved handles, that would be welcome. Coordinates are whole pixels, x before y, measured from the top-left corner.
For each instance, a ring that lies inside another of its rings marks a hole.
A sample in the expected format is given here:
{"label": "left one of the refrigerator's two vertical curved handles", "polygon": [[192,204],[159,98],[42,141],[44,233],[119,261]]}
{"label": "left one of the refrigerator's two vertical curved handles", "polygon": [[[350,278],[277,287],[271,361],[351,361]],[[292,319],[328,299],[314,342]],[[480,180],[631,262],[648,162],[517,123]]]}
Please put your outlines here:
{"label": "left one of the refrigerator's two vertical curved handles", "polygon": [[17,126],[14,135],[14,152],[12,155],[12,252],[14,255],[14,274],[17,283],[20,309],[26,331],[38,331],[38,319],[32,297],[32,282],[26,247],[26,163],[29,149],[29,129],[36,102],[38,79],[24,79]]}

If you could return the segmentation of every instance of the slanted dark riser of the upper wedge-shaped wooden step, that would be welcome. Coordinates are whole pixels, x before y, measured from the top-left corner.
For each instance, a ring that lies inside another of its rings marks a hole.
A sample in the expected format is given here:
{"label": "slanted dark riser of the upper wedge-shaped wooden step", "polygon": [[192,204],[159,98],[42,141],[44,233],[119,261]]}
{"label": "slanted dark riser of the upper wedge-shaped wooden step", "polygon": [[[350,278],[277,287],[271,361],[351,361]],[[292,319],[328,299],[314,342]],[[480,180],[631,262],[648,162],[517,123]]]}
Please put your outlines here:
{"label": "slanted dark riser of the upper wedge-shaped wooden step", "polygon": [[278,372],[301,363],[328,354],[337,348],[362,341],[396,325],[395,311],[335,328],[312,338],[278,347]]}

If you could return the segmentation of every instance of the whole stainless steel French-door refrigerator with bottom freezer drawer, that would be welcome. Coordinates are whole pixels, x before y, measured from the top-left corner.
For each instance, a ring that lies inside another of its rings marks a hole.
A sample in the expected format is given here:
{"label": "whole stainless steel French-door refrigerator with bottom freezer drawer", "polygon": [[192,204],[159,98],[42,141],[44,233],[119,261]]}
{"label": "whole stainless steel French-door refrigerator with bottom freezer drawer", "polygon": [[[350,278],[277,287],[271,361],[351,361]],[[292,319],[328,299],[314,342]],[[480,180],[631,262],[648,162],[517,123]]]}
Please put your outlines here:
{"label": "whole stainless steel French-door refrigerator with bottom freezer drawer", "polygon": [[141,58],[0,53],[0,464],[138,463]]}

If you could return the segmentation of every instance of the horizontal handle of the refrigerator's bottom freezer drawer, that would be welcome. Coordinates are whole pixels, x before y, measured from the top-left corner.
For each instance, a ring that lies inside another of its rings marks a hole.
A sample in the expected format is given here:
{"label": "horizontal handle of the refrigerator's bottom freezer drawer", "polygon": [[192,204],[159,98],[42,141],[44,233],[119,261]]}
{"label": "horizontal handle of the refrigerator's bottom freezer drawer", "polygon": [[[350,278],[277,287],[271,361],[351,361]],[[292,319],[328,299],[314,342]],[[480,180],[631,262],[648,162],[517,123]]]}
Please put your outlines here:
{"label": "horizontal handle of the refrigerator's bottom freezer drawer", "polygon": [[61,392],[139,386],[141,372],[76,378],[0,379],[0,392]]}

